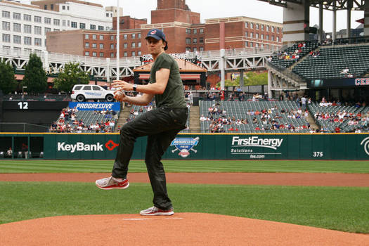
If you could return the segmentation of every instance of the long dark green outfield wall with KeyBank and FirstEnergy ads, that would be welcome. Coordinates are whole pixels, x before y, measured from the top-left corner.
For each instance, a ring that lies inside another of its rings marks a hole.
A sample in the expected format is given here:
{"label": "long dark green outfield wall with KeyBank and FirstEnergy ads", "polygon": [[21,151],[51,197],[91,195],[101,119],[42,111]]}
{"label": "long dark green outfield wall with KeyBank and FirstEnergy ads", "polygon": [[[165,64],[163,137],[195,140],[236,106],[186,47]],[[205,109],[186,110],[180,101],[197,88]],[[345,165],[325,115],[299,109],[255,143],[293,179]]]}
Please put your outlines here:
{"label": "long dark green outfield wall with KeyBank and FirstEnergy ads", "polygon": [[[137,139],[132,159],[144,159],[145,141]],[[119,135],[0,134],[0,152],[18,153],[22,143],[32,157],[115,159]],[[369,134],[179,134],[163,159],[369,160]]]}

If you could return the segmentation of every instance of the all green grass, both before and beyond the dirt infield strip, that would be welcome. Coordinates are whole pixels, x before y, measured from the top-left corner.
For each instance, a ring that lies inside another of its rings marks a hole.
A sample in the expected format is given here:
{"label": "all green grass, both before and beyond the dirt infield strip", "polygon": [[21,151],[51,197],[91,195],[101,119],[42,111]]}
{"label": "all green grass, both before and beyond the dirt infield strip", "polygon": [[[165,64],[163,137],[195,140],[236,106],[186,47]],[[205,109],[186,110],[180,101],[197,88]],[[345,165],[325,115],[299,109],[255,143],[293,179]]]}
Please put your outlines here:
{"label": "all green grass, both before and beyond the dirt infield strip", "polygon": [[[369,173],[369,162],[164,160],[166,171]],[[109,172],[112,160],[10,160],[1,173]],[[145,171],[132,161],[131,172]],[[369,233],[369,188],[168,184],[176,212],[207,212]],[[150,207],[149,183],[100,190],[93,183],[0,182],[0,224],[44,216],[137,214]]]}

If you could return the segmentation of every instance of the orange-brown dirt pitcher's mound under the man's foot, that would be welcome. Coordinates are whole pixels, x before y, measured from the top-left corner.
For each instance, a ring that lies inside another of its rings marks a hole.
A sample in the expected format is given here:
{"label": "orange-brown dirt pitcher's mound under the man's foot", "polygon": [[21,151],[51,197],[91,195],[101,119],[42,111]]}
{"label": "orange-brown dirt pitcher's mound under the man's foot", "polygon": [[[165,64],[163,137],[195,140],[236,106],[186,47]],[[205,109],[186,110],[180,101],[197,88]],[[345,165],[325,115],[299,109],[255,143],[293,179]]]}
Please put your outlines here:
{"label": "orange-brown dirt pitcher's mound under the man's foot", "polygon": [[369,235],[200,213],[56,216],[0,225],[1,245],[368,245]]}

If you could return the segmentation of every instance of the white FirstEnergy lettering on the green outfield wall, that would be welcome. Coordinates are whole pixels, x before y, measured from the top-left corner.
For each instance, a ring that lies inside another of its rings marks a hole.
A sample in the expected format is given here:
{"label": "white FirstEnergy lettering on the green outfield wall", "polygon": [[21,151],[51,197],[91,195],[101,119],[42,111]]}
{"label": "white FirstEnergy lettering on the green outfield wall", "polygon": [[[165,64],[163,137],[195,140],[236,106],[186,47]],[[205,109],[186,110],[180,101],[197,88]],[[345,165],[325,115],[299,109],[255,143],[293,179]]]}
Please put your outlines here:
{"label": "white FirstEnergy lettering on the green outfield wall", "polygon": [[259,138],[258,136],[240,138],[238,136],[233,136],[232,147],[262,147],[276,150],[282,145],[282,142],[283,138]]}

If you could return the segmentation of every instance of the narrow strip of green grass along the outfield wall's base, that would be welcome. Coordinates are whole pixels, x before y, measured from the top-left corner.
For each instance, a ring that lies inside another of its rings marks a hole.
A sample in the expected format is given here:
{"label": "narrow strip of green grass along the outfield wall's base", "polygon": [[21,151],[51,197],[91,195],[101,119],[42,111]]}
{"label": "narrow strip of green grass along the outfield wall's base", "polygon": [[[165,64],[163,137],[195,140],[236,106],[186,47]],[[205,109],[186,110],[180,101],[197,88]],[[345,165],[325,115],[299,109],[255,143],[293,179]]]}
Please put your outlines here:
{"label": "narrow strip of green grass along the outfield wall's base", "polygon": [[[110,172],[112,160],[0,160],[0,173]],[[312,172],[369,173],[369,161],[322,160],[163,160],[167,172]],[[132,160],[131,172],[145,172]]]}

